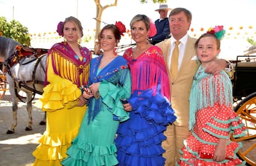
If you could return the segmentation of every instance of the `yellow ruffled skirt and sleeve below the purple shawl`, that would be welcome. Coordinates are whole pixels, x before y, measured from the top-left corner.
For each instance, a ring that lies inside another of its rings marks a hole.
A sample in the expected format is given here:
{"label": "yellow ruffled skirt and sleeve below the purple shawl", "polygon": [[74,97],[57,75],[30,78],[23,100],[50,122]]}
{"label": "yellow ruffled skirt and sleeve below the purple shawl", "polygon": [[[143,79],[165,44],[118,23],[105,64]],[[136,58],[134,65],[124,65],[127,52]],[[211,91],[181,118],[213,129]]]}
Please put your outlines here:
{"label": "yellow ruffled skirt and sleeve below the purple shawl", "polygon": [[70,81],[48,84],[40,98],[46,111],[46,131],[33,151],[38,166],[61,166],[85,114],[86,106],[75,106],[81,94],[77,85]]}

